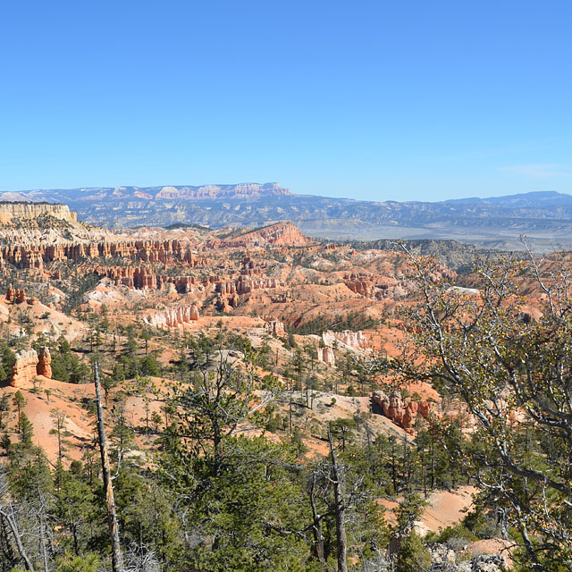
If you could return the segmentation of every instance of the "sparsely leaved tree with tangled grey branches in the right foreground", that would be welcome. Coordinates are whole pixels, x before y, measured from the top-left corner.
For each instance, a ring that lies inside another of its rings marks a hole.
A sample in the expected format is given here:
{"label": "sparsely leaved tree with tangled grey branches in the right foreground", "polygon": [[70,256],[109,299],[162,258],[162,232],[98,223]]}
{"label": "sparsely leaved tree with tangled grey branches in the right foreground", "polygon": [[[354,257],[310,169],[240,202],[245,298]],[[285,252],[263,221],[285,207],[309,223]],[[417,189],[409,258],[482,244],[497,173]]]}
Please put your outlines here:
{"label": "sparsely leaved tree with tangled grey branches in the right foreground", "polygon": [[451,454],[509,515],[530,569],[572,567],[568,268],[531,252],[527,262],[477,261],[467,290],[434,258],[407,253],[417,293],[404,311],[410,340],[399,358],[380,358],[373,369],[459,398],[477,422],[475,445]]}

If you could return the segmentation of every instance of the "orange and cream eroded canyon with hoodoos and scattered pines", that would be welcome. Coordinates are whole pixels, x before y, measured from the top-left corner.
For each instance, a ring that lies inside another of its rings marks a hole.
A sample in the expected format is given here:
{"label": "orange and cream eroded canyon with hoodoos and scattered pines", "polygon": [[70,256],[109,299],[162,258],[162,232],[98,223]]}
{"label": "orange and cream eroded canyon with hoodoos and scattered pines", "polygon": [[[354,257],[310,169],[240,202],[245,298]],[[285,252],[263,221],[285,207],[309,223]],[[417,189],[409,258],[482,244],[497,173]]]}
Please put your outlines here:
{"label": "orange and cream eroded canyon with hoodoos and scattered pines", "polygon": [[[168,203],[185,192],[162,188],[153,200]],[[202,189],[193,200],[208,202],[211,192]],[[112,194],[125,198],[129,192]],[[141,189],[129,197],[147,200]],[[418,452],[424,445],[417,439],[433,434],[433,424],[454,420],[467,435],[475,431],[475,418],[458,401],[427,383],[404,384],[376,369],[376,359],[383,357],[383,364],[400,356],[420,333],[408,322],[407,310],[418,298],[400,245],[315,239],[290,222],[248,229],[182,224],[113,231],[72,224],[73,214],[69,221],[56,220],[44,206],[27,209],[27,218],[6,219],[0,227],[5,291],[0,357],[8,365],[3,391],[21,393],[21,412],[33,425],[34,442],[42,444],[54,466],[63,455],[65,467],[81,467],[87,443],[93,442],[95,358],[114,455],[121,435],[113,430],[117,419],[124,416],[126,426],[133,427],[122,459],[126,470],[137,467],[131,458],[160,457],[168,446],[156,435],[169,434],[176,418],[176,407],[164,403],[172,391],[183,391],[184,403],[204,403],[207,415],[213,413],[208,404],[215,391],[209,383],[219,371],[232,383],[223,390],[229,407],[240,400],[239,391],[253,389],[248,408],[257,415],[252,425],[236,427],[239,442],[246,445],[244,436],[267,439],[273,448],[278,443],[296,447],[304,466],[326,458],[328,430],[335,432],[341,455],[345,448],[349,455],[360,448],[369,455],[402,451],[403,467],[421,458],[417,453],[429,454],[426,448]],[[404,246],[435,247],[418,240]],[[483,290],[464,270],[465,255],[473,257],[475,250],[449,243],[436,247],[450,257],[432,265],[429,280],[446,285],[451,303],[478,303]],[[554,270],[561,259],[546,257],[543,264]],[[522,286],[526,294],[526,283]],[[534,297],[517,311],[523,324],[535,324],[542,315]],[[271,401],[259,407],[267,394]],[[56,417],[69,435],[63,453]],[[519,419],[515,412],[509,416],[511,423]],[[21,446],[16,416],[6,431]],[[374,450],[366,449],[372,443]],[[417,483],[427,486],[428,470],[416,475]],[[387,491],[383,494],[395,490]],[[379,501],[394,506],[391,499]],[[439,526],[433,526],[436,534]]]}

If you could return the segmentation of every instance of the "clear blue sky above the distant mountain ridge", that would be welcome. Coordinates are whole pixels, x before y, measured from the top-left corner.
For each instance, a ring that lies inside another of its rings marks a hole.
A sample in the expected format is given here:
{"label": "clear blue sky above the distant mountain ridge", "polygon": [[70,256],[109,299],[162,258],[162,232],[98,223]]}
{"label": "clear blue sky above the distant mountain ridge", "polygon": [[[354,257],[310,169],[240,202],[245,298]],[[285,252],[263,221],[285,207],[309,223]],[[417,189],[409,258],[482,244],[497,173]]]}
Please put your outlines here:
{"label": "clear blue sky above the distant mountain ridge", "polygon": [[0,190],[572,193],[572,3],[11,2]]}

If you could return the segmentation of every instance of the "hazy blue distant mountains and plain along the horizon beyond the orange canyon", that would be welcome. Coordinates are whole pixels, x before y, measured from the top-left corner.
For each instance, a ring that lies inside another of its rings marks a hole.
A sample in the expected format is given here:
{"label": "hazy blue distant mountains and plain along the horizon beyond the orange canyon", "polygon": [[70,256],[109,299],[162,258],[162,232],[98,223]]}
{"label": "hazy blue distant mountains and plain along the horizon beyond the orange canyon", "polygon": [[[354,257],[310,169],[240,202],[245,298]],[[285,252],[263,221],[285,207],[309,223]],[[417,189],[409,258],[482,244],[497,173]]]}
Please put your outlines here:
{"label": "hazy blue distant mountains and plain along the horizon beyond the orange canyon", "polygon": [[[349,191],[350,192],[350,191]],[[59,202],[99,226],[173,223],[263,226],[289,220],[331,240],[454,239],[489,248],[572,248],[572,196],[538,191],[441,202],[360,201],[295,195],[276,183],[37,189],[0,193],[1,200]]]}

